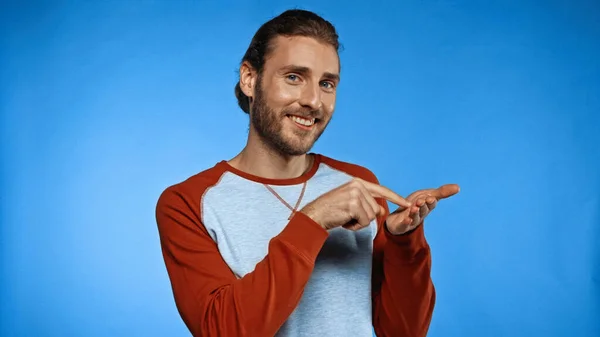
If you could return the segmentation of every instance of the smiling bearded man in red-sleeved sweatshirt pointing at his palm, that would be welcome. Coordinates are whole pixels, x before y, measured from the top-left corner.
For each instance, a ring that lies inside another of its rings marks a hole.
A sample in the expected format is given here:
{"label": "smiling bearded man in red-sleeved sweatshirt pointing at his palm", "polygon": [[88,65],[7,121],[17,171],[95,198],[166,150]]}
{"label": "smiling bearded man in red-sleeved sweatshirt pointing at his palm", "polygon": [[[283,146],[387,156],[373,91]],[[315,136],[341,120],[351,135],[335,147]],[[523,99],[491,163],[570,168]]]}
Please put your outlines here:
{"label": "smiling bearded man in red-sleeved sweatshirt pointing at his palm", "polygon": [[422,222],[458,186],[404,199],[366,168],[309,153],[334,111],[338,46],[308,11],[260,27],[235,88],[247,145],[159,198],[163,256],[194,336],[427,333],[435,291]]}

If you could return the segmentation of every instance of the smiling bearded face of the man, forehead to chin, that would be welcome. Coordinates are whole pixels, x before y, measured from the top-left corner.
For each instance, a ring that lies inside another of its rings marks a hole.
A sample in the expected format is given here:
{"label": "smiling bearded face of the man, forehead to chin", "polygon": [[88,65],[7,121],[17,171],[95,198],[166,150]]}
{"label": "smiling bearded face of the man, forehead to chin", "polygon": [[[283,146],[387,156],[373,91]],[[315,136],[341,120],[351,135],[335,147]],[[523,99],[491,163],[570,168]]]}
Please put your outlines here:
{"label": "smiling bearded face of the man, forehead to chin", "polygon": [[307,37],[277,37],[256,79],[251,127],[283,155],[307,153],[331,119],[338,82],[334,47]]}

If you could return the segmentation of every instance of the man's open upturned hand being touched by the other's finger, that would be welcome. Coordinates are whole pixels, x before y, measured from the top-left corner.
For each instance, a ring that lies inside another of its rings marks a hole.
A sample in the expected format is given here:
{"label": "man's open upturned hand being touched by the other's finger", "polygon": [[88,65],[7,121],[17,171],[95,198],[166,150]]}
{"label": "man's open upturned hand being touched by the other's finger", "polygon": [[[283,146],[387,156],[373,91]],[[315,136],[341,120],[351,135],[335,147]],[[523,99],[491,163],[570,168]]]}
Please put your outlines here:
{"label": "man's open upturned hand being touched by the other's finger", "polygon": [[413,192],[406,198],[412,204],[412,207],[400,207],[387,217],[388,231],[394,235],[401,235],[417,228],[437,206],[439,200],[451,197],[457,194],[459,190],[458,185],[447,184],[439,188]]}

